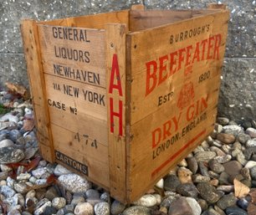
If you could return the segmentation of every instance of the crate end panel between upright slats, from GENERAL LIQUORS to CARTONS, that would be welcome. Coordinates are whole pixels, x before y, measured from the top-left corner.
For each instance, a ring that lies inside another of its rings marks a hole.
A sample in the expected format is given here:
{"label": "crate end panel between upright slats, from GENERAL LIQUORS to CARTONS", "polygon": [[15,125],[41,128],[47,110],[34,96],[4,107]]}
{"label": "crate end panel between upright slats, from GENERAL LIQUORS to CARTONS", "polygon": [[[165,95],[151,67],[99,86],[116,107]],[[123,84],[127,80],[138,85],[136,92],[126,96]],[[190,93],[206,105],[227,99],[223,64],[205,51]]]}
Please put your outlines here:
{"label": "crate end panel between upright slats, from GENERAL LIQUORS to CARTONS", "polygon": [[56,161],[109,187],[105,31],[38,25]]}

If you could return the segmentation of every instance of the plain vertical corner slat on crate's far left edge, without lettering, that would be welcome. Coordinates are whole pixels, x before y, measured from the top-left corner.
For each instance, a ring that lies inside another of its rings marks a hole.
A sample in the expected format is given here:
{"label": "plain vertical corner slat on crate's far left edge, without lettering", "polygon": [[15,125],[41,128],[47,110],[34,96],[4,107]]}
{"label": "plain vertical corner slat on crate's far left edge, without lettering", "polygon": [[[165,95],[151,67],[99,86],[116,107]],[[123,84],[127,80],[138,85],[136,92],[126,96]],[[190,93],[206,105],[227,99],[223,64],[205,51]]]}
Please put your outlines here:
{"label": "plain vertical corner slat on crate's far left edge, without lettering", "polygon": [[[49,125],[49,111],[45,100],[44,73],[39,51],[37,23],[33,20],[23,20],[21,23],[21,31],[23,35],[23,49],[27,61],[30,90],[33,96],[38,139],[42,144],[48,145],[48,152],[50,154],[45,156],[45,159],[52,162],[54,161],[54,145]],[[43,156],[48,152],[43,153]]]}

